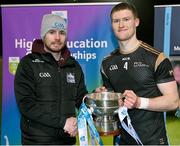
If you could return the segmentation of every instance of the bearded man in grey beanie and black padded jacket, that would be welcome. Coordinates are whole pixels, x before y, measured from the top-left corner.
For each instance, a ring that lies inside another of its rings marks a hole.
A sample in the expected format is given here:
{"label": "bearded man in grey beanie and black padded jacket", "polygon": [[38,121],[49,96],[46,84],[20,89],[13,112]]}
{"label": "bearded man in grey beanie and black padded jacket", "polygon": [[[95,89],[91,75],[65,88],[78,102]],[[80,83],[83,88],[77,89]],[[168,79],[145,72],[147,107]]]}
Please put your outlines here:
{"label": "bearded man in grey beanie and black padded jacket", "polygon": [[66,47],[66,21],[55,14],[44,15],[41,39],[21,59],[15,75],[22,144],[74,145],[75,108],[87,90],[83,71]]}

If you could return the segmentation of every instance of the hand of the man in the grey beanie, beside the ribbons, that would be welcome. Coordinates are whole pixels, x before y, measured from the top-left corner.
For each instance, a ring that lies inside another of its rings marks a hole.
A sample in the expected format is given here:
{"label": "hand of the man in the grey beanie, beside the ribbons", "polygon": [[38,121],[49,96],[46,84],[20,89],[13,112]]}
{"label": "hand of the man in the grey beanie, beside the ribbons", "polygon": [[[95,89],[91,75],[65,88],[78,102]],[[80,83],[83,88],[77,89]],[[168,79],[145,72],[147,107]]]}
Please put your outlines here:
{"label": "hand of the man in the grey beanie, beside the ribbons", "polygon": [[77,119],[70,117],[66,119],[64,126],[64,132],[68,133],[71,137],[75,137],[77,134]]}

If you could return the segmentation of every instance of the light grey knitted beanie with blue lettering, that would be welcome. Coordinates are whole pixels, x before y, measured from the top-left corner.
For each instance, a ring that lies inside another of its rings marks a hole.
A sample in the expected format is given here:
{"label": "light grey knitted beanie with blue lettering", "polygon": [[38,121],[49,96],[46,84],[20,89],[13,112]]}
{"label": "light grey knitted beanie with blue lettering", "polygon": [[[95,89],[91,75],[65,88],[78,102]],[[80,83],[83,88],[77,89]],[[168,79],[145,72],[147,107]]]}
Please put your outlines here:
{"label": "light grey knitted beanie with blue lettering", "polygon": [[58,29],[67,32],[67,23],[59,15],[45,14],[41,23],[41,38],[51,29]]}

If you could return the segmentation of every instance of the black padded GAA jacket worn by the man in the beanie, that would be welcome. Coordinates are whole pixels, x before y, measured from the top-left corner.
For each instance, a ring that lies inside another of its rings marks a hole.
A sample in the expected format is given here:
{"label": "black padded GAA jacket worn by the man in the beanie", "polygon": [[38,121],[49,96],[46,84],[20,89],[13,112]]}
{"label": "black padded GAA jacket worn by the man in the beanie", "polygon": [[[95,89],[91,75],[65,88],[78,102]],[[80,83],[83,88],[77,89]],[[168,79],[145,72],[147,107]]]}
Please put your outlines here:
{"label": "black padded GAA jacket worn by the man in the beanie", "polygon": [[87,93],[79,63],[69,56],[59,65],[50,53],[23,57],[14,87],[22,133],[33,136],[68,136],[66,119],[75,116]]}

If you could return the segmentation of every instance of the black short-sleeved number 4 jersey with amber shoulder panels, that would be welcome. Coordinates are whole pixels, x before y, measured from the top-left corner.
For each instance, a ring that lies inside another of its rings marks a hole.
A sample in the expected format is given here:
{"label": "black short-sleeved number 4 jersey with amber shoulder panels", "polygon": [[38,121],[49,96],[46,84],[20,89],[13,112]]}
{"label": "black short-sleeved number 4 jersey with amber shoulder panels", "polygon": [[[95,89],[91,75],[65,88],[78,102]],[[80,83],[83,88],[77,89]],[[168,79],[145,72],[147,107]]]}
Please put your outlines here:
{"label": "black short-sleeved number 4 jersey with amber shoulder panels", "polygon": [[[174,81],[169,59],[144,42],[128,54],[117,49],[105,57],[101,75],[109,90],[121,93],[133,90],[137,96],[145,98],[162,95],[157,84]],[[128,112],[143,144],[168,144],[163,112],[140,109]],[[121,136],[124,144],[136,144],[124,130]]]}

